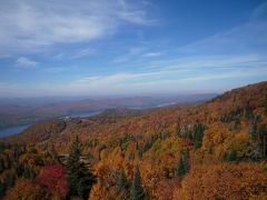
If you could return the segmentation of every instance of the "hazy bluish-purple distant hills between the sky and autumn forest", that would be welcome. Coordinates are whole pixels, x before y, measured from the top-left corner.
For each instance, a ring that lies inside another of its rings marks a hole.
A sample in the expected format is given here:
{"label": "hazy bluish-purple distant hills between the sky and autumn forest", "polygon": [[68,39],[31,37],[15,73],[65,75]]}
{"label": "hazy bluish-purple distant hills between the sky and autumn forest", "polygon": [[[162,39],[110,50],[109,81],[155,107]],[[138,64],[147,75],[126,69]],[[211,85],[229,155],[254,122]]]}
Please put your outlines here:
{"label": "hazy bluish-purple distant hills between the sky and autumn forest", "polygon": [[0,128],[34,123],[70,113],[107,109],[149,109],[176,103],[197,103],[210,100],[216,93],[177,94],[162,97],[126,97],[108,99],[19,98],[0,99]]}

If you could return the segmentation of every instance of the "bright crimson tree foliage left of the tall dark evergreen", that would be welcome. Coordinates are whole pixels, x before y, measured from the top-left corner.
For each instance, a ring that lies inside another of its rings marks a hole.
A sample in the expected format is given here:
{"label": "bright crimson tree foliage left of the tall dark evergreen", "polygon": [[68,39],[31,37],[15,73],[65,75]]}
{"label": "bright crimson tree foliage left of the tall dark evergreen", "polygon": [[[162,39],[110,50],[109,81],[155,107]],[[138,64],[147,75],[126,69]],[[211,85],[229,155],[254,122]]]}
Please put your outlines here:
{"label": "bright crimson tree foliage left of the tall dark evergreen", "polygon": [[66,171],[59,163],[42,168],[38,181],[40,184],[46,186],[51,194],[59,192],[62,197],[66,197],[68,193]]}

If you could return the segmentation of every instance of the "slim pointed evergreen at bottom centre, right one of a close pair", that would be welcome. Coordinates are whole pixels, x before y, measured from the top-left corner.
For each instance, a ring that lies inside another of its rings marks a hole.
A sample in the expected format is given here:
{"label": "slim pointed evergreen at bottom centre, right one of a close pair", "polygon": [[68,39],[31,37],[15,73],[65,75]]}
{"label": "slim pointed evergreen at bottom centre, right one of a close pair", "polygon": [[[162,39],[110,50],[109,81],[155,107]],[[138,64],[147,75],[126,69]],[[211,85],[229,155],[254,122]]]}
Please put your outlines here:
{"label": "slim pointed evergreen at bottom centre, right one of a close pair", "polygon": [[142,200],[145,199],[144,189],[141,186],[141,177],[139,167],[136,168],[134,181],[131,184],[131,191],[130,191],[130,200]]}

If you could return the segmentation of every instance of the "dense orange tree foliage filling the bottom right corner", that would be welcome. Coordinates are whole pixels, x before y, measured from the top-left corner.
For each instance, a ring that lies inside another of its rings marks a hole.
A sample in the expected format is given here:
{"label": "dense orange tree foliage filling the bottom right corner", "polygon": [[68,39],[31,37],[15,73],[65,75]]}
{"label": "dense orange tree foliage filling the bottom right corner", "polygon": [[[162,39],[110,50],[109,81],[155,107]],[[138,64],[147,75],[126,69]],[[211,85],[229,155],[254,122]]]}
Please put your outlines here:
{"label": "dense orange tree foliage filling the bottom right corner", "polygon": [[174,191],[174,199],[267,198],[267,176],[258,164],[199,166]]}

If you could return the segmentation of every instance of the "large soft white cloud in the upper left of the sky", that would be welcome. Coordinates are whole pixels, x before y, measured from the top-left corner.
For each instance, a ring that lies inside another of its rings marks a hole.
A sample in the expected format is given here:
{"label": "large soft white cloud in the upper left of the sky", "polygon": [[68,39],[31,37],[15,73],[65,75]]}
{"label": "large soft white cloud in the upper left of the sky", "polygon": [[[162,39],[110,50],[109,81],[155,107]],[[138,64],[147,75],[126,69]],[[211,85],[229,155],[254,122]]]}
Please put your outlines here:
{"label": "large soft white cloud in the upper left of the sky", "polygon": [[123,23],[149,24],[145,10],[141,3],[119,0],[2,0],[0,53],[91,41],[113,34]]}

